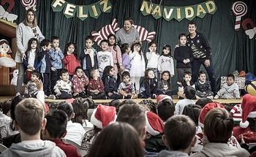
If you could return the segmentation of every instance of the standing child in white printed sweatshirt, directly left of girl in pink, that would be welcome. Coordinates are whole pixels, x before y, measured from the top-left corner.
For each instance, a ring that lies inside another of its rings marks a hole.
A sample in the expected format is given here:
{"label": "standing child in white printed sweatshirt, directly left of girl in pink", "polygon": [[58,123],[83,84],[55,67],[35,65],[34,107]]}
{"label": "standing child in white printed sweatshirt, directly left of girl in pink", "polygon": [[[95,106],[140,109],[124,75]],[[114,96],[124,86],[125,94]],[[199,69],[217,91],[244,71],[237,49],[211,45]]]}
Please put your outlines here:
{"label": "standing child in white printed sweatshirt, directly left of girl in pink", "polygon": [[97,53],[97,58],[99,61],[99,76],[102,77],[105,67],[113,66],[113,55],[108,51],[108,40],[103,39],[99,45],[102,50]]}

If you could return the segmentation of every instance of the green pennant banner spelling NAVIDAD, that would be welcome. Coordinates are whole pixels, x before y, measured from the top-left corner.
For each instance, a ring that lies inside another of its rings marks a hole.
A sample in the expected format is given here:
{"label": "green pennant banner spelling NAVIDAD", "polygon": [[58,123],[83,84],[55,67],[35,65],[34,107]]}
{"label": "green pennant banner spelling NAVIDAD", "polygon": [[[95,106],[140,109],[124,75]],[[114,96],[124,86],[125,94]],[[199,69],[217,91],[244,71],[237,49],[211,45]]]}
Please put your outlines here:
{"label": "green pennant banner spelling NAVIDAD", "polygon": [[214,0],[208,0],[200,4],[195,4],[185,7],[168,7],[162,6],[160,4],[154,4],[151,1],[143,0],[140,7],[140,12],[146,15],[152,15],[154,18],[165,18],[165,20],[170,21],[173,18],[180,22],[184,18],[187,20],[192,20],[195,16],[203,18],[207,13],[214,15],[217,11],[217,5]]}

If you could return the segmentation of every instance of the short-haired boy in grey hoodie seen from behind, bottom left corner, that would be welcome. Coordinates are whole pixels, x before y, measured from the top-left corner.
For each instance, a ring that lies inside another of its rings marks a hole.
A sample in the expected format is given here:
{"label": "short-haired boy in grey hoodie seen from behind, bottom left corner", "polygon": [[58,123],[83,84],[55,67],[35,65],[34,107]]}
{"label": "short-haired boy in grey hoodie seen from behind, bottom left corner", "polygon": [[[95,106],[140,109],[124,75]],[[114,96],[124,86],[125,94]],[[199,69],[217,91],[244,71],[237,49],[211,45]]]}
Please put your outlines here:
{"label": "short-haired boy in grey hoodie seen from behind, bottom left corner", "polygon": [[40,139],[45,129],[45,107],[37,99],[29,98],[15,107],[15,128],[20,132],[21,142],[12,144],[1,156],[66,156],[54,142]]}

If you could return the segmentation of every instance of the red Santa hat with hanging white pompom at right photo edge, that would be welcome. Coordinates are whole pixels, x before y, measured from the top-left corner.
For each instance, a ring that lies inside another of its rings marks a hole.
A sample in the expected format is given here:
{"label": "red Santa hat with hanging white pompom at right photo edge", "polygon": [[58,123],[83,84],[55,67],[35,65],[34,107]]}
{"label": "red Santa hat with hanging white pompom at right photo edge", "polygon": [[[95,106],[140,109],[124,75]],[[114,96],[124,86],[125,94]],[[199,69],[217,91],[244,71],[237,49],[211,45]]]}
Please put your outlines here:
{"label": "red Santa hat with hanging white pompom at right photo edge", "polygon": [[249,122],[246,120],[248,118],[256,118],[256,96],[252,96],[249,93],[244,95],[241,103],[242,110],[242,120],[240,122],[241,128],[247,128]]}

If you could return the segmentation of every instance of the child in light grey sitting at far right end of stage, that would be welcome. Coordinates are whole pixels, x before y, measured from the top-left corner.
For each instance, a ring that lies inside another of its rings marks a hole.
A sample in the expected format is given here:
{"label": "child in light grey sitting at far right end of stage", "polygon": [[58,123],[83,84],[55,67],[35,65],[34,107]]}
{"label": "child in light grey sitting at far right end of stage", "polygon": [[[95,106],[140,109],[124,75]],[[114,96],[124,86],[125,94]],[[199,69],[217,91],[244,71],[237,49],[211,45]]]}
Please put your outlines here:
{"label": "child in light grey sitting at far right end of stage", "polygon": [[227,83],[222,86],[214,99],[240,99],[239,88],[233,74],[227,75]]}

